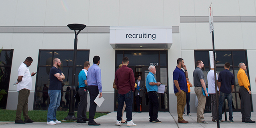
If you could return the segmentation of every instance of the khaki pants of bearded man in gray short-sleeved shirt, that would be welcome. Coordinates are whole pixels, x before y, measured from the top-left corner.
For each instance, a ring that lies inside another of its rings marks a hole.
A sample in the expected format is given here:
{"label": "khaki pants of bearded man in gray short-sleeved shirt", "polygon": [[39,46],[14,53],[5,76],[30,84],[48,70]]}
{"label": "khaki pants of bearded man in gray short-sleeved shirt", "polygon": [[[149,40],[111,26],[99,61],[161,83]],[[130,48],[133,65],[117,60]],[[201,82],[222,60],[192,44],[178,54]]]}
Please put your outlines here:
{"label": "khaki pants of bearded man in gray short-sleeved shirt", "polygon": [[206,103],[206,96],[204,96],[203,94],[202,87],[195,87],[195,93],[198,99],[196,122],[202,122],[204,120],[204,107]]}

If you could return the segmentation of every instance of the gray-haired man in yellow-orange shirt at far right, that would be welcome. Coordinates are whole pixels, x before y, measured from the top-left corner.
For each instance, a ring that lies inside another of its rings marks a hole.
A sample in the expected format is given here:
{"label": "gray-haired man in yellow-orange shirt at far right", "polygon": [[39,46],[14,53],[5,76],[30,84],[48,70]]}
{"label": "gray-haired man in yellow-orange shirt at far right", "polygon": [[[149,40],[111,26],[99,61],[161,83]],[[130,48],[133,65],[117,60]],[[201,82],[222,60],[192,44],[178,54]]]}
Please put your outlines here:
{"label": "gray-haired man in yellow-orange shirt at far right", "polygon": [[249,89],[250,82],[247,75],[245,74],[246,65],[241,62],[238,67],[240,68],[237,73],[238,84],[240,85],[239,92],[241,95],[241,113],[242,113],[242,122],[246,123],[255,123],[251,118],[251,100],[250,94],[252,92]]}

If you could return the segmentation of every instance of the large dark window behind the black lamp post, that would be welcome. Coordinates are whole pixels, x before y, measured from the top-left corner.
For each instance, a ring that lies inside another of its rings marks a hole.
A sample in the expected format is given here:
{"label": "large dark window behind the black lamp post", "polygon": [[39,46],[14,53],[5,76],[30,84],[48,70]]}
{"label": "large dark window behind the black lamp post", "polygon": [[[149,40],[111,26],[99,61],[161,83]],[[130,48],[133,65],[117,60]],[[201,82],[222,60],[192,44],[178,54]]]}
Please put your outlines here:
{"label": "large dark window behind the black lamp post", "polygon": [[[47,110],[49,105],[48,87],[50,84],[49,73],[54,58],[59,58],[65,80],[62,82],[60,107],[67,109],[69,105],[69,89],[72,84],[73,50],[39,50],[38,68],[36,75],[36,88],[34,110]],[[89,60],[89,50],[77,50],[75,87],[78,90],[78,74],[84,68],[84,62]],[[77,108],[78,102],[75,103]]]}

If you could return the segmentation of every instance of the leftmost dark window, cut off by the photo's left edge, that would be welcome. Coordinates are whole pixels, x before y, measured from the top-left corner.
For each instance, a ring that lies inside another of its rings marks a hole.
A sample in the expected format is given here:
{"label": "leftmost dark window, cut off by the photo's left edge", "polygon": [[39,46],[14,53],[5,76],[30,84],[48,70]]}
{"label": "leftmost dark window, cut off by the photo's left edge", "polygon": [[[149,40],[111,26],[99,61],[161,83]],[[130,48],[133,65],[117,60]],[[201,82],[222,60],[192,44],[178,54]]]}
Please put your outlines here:
{"label": "leftmost dark window, cut off by the photo's left edge", "polygon": [[[13,50],[2,50],[0,52],[0,90],[5,90],[8,93],[9,90],[9,82],[10,82],[10,74],[12,68],[12,55]],[[18,78],[18,77],[17,77]],[[0,95],[2,97],[0,101],[0,108],[6,109],[8,94]]]}

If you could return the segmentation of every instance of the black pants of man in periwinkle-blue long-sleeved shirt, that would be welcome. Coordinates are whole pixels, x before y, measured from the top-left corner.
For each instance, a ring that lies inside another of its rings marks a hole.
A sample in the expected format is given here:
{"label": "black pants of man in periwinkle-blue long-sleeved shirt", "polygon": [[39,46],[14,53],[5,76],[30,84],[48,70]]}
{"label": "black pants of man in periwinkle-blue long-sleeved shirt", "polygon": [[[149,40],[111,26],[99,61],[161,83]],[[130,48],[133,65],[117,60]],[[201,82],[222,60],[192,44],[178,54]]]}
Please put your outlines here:
{"label": "black pants of man in periwinkle-blue long-sleeved shirt", "polygon": [[97,108],[97,104],[94,102],[94,100],[99,94],[99,89],[98,86],[88,86],[88,91],[90,93],[89,123],[93,123]]}

